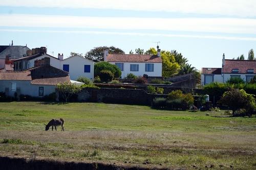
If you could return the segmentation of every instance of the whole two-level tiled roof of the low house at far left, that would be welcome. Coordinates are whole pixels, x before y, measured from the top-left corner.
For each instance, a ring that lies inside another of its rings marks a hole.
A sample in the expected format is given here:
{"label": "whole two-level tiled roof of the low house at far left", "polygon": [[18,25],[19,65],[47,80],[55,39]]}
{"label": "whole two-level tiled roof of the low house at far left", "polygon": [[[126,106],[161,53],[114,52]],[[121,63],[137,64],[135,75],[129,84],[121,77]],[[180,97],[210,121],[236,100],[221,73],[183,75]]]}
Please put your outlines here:
{"label": "whole two-level tiled roof of the low house at far left", "polygon": [[33,85],[70,83],[68,72],[52,66],[40,66],[27,71],[0,72],[0,80],[30,81]]}

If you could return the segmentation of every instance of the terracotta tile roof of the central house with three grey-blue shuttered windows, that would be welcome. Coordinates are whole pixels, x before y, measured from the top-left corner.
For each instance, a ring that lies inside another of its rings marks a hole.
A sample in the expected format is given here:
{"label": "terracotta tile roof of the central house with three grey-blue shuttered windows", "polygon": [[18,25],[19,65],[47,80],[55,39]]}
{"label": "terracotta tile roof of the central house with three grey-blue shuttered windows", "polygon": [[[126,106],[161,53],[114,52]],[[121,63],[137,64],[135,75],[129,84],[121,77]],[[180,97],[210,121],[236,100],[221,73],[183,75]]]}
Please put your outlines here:
{"label": "terracotta tile roof of the central house with three grey-blue shuttered windows", "polygon": [[146,62],[162,63],[161,57],[156,55],[138,55],[138,54],[109,54],[106,57],[109,62]]}

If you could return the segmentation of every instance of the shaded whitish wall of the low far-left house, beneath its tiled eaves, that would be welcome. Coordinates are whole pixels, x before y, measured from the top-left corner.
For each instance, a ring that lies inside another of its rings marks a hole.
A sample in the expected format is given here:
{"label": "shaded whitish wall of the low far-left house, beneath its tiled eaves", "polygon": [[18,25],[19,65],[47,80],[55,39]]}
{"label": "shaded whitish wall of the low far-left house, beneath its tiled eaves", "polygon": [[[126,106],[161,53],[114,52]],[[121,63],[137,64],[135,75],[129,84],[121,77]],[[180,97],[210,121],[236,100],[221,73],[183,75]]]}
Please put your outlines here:
{"label": "shaded whitish wall of the low far-left house, beneath its tiled eaves", "polygon": [[14,97],[16,91],[12,91],[12,83],[16,83],[16,89],[20,88],[20,94],[26,94],[34,97],[39,96],[39,87],[44,87],[44,95],[49,95],[50,93],[55,92],[55,86],[48,85],[31,85],[30,81],[17,81],[17,80],[0,80],[0,91],[5,92],[5,88],[9,88],[9,96]]}

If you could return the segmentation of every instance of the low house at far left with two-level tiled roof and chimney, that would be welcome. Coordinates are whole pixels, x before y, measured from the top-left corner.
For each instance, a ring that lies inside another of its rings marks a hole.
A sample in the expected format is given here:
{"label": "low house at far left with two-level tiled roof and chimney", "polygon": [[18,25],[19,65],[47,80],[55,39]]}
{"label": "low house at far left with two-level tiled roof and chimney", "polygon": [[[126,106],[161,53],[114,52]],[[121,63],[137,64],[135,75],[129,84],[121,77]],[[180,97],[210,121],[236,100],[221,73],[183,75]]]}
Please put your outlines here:
{"label": "low house at far left with two-level tiled roof and chimney", "polygon": [[43,97],[56,91],[56,85],[71,83],[69,72],[50,65],[50,58],[44,64],[25,71],[0,71],[0,92],[14,97],[20,94]]}

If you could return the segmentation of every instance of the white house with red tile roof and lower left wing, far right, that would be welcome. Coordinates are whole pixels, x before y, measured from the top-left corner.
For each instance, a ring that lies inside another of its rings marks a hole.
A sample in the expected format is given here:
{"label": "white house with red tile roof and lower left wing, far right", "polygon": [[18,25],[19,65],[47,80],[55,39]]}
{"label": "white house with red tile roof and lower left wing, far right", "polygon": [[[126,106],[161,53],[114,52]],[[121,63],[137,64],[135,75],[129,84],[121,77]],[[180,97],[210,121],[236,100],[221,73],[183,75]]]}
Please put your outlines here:
{"label": "white house with red tile roof and lower left wing, far right", "polygon": [[232,77],[249,82],[256,75],[256,60],[230,60],[223,54],[222,68],[202,68],[202,85],[211,82],[225,83]]}

